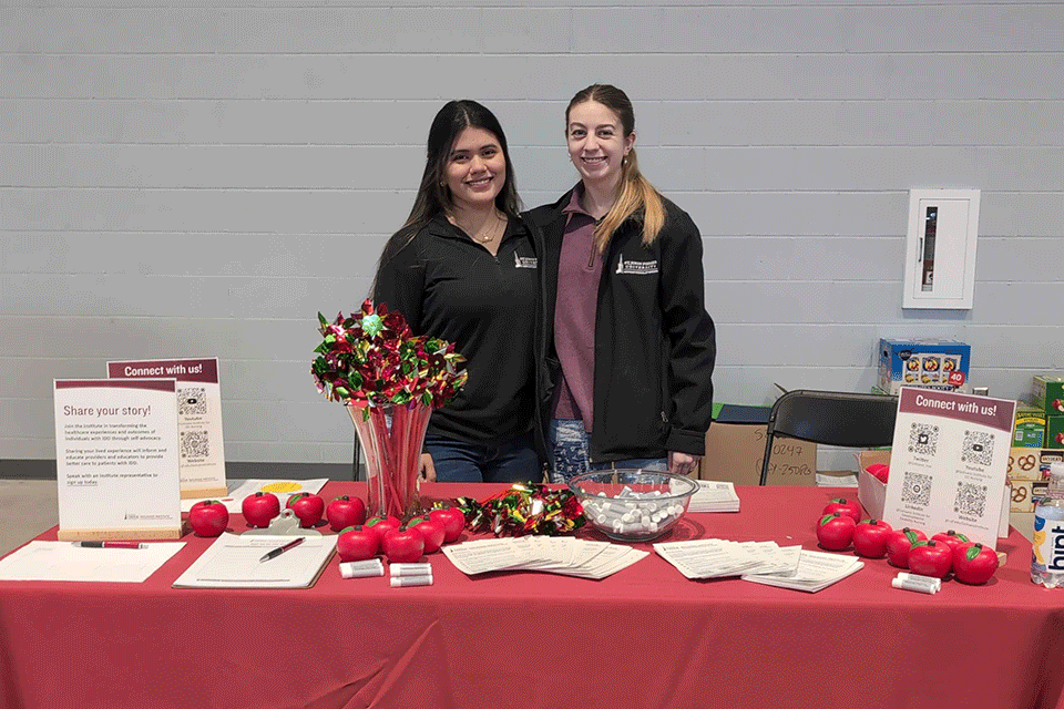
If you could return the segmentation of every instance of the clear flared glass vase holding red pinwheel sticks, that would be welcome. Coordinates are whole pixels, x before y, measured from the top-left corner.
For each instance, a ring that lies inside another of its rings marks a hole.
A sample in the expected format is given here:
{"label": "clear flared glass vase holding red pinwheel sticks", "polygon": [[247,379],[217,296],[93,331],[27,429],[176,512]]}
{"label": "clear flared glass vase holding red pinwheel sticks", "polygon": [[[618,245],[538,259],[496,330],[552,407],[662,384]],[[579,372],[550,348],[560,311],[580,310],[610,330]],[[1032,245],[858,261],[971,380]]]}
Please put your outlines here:
{"label": "clear flared glass vase holding red pinwheel sticks", "polygon": [[[366,412],[369,412],[366,415]],[[421,445],[432,408],[423,403],[348,405],[358,442],[366,452],[367,514],[406,521],[419,512]]]}

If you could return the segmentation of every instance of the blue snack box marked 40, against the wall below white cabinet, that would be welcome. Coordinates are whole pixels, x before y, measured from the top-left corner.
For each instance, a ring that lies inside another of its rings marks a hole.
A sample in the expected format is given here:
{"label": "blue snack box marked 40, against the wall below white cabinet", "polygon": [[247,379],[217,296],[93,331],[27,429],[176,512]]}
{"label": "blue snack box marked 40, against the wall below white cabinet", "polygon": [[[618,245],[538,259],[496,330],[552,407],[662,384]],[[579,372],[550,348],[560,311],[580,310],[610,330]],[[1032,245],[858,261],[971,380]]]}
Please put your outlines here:
{"label": "blue snack box marked 40, against the wall below white cabinet", "polygon": [[956,340],[879,340],[879,381],[891,395],[902,387],[970,391],[972,348]]}

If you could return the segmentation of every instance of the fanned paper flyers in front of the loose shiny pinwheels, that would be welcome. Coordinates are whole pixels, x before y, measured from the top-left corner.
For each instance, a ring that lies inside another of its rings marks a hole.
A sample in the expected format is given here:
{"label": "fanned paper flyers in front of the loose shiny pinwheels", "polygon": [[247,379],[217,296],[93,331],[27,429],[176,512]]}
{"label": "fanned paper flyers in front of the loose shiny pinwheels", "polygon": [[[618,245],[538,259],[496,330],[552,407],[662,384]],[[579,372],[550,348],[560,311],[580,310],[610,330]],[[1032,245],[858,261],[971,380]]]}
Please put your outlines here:
{"label": "fanned paper flyers in front of the loose shiny pinwheels", "polygon": [[621,544],[564,536],[477,540],[444,546],[442,552],[469,576],[487,572],[548,572],[600,579],[647,556]]}

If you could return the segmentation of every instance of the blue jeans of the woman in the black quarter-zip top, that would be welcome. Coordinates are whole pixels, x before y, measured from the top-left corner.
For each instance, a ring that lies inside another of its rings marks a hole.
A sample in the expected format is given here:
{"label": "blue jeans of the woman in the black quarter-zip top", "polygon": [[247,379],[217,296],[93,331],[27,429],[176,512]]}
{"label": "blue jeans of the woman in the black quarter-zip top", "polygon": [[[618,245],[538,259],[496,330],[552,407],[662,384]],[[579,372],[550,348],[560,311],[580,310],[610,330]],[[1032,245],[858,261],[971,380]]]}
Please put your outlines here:
{"label": "blue jeans of the woman in the black quarter-zip top", "polygon": [[436,480],[441,483],[538,483],[543,479],[531,432],[492,443],[428,434],[424,452],[432,456]]}

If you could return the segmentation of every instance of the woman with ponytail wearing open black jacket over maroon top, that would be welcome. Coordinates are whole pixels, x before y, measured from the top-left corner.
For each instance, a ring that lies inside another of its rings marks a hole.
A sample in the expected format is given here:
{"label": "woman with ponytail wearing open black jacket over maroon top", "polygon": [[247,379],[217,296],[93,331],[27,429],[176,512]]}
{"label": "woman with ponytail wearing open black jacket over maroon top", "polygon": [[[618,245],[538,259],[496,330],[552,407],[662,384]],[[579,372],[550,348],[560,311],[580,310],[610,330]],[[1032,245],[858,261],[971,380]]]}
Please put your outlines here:
{"label": "woman with ponytail wearing open black jacket over maroon top", "polygon": [[580,91],[565,135],[580,182],[526,217],[544,240],[536,417],[553,480],[689,474],[705,453],[716,359],[702,237],[640,173],[623,91]]}

